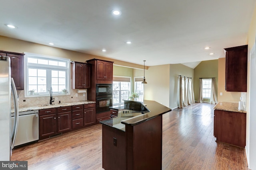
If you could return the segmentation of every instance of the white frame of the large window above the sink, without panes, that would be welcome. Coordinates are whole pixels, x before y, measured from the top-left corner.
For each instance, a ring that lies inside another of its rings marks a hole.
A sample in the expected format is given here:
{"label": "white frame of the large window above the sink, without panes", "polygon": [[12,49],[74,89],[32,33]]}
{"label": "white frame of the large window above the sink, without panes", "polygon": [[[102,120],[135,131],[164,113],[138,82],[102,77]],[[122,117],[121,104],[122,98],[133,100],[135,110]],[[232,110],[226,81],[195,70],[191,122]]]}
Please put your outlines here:
{"label": "white frame of the large window above the sink, without panes", "polygon": [[[53,65],[46,65],[46,64],[34,64],[34,63],[28,63],[28,57],[33,57],[36,59],[50,59],[51,61],[61,61],[65,62],[66,66],[53,66]],[[28,69],[29,68],[36,68],[36,69],[44,69],[46,70],[46,93],[41,94],[34,94],[34,95],[28,95]],[[70,59],[66,58],[60,58],[60,57],[52,57],[47,55],[39,55],[34,53],[25,53],[24,55],[24,97],[30,98],[30,97],[44,97],[50,95],[50,87],[52,86],[51,81],[52,77],[49,77],[52,70],[58,70],[58,71],[65,71],[66,72],[66,89],[68,92],[67,95],[70,95],[70,88],[71,88],[71,82],[70,82]],[[50,82],[49,82],[50,81]],[[60,92],[53,92],[54,96],[62,96],[66,95]]]}

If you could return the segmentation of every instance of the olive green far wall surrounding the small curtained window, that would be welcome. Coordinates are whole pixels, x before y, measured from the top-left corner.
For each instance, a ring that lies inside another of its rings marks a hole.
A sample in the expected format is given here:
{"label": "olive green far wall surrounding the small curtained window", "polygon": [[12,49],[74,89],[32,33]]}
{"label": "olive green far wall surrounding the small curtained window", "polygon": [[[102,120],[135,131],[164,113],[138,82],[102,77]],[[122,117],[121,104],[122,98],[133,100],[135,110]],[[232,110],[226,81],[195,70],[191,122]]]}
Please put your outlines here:
{"label": "olive green far wall surrounding the small curtained window", "polygon": [[[199,78],[215,78],[215,89],[218,94],[218,60],[202,61],[194,68],[194,95],[195,100],[198,100]],[[204,99],[205,102],[210,102],[210,99]]]}

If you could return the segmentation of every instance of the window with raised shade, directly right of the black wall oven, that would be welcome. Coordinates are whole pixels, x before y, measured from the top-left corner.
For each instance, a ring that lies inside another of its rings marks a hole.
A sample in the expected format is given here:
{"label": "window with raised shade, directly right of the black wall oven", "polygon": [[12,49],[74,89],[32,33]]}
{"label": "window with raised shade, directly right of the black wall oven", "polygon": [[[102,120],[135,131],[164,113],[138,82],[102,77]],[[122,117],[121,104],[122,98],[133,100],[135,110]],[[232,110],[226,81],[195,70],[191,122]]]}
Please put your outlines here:
{"label": "window with raised shade, directly right of the black wall oven", "polygon": [[113,76],[113,105],[123,104],[130,96],[130,77]]}

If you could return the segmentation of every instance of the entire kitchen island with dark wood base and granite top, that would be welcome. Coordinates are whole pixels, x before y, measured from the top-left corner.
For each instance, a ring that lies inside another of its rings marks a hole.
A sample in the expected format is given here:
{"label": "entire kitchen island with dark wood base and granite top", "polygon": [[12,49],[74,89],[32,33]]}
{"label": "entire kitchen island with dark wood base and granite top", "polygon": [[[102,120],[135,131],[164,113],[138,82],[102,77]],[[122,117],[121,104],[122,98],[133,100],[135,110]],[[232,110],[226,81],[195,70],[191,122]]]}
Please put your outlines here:
{"label": "entire kitchen island with dark wood base and granite top", "polygon": [[110,107],[118,116],[102,124],[102,168],[105,170],[162,169],[162,115],[170,108],[151,100],[124,101]]}

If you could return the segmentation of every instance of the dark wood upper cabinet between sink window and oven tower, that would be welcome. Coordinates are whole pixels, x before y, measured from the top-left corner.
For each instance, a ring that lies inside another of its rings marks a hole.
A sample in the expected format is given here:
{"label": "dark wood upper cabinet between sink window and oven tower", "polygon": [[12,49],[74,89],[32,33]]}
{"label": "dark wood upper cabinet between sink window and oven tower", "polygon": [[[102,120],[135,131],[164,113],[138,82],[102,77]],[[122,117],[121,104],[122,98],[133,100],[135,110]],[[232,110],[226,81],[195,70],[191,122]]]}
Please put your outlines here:
{"label": "dark wood upper cabinet between sink window and oven tower", "polygon": [[72,62],[72,88],[90,88],[91,65],[87,63]]}

